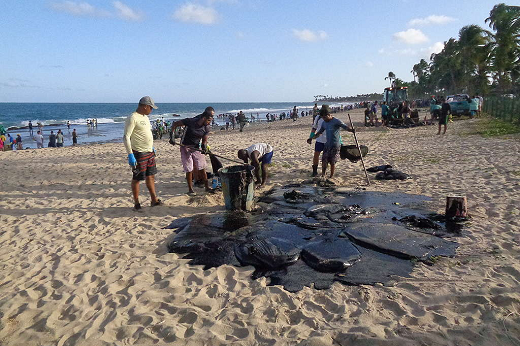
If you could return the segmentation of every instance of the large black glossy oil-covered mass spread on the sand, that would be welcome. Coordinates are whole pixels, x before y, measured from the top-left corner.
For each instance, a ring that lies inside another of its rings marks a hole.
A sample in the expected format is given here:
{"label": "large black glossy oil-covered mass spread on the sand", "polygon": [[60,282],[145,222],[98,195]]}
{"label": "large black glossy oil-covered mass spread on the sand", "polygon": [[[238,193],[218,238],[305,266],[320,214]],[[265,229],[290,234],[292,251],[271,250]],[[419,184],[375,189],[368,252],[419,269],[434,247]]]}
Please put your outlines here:
{"label": "large black glossy oil-covered mass spread on the sand", "polygon": [[[253,278],[294,292],[387,283],[415,263],[454,256],[460,233],[427,210],[428,197],[322,187],[314,181],[273,188],[252,213],[175,220],[168,244],[191,264],[254,266]],[[458,223],[460,226],[460,223]]]}

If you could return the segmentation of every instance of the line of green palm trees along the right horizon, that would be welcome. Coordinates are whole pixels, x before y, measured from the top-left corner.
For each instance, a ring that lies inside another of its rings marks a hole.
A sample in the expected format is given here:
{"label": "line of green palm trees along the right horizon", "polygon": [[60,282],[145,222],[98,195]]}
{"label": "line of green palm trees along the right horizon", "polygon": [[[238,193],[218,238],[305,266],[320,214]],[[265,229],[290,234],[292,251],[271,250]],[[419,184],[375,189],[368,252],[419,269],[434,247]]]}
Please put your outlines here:
{"label": "line of green palm trees along the right horizon", "polygon": [[[412,69],[413,82],[390,72],[397,86],[408,86],[410,98],[437,94],[504,95],[520,92],[520,6],[497,4],[478,25],[460,29],[458,39],[444,42],[430,62],[421,59]],[[390,79],[392,81],[392,79]]]}

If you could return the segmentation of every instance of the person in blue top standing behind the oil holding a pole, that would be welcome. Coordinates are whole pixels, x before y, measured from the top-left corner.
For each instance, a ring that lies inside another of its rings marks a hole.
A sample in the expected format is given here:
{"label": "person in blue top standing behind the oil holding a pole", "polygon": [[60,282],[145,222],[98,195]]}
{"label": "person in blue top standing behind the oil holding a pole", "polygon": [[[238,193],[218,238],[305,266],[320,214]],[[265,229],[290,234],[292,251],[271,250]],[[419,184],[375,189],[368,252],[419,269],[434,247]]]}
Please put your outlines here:
{"label": "person in blue top standing behind the oil holding a pole", "polygon": [[[321,157],[321,176],[325,177],[327,166],[330,164],[329,178],[332,178],[334,177],[336,162],[338,162],[339,152],[341,149],[340,130],[344,129],[352,133],[355,131],[354,129],[348,127],[341,120],[334,118],[332,114],[330,114],[328,105],[321,106],[320,116],[323,118],[324,122],[314,138],[319,138],[324,132],[327,135],[327,142],[325,143],[325,147],[323,148],[323,155]],[[312,138],[309,138],[307,142],[312,142]]]}

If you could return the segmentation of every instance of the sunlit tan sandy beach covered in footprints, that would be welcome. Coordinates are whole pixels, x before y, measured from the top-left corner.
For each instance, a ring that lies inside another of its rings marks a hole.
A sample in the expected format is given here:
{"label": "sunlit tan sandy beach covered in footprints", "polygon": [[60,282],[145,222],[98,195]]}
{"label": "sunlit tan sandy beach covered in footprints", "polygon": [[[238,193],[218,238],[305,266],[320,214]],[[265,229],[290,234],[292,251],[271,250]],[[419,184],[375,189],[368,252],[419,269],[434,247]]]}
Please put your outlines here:
{"label": "sunlit tan sandy beach covered in footprints", "polygon": [[[436,125],[364,128],[361,110],[351,115],[370,148],[366,166],[412,177],[372,179],[368,190],[430,196],[439,213],[446,196],[467,197],[472,219],[456,257],[419,263],[392,285],[289,293],[252,280],[252,267],[203,270],[168,253],[165,226],[224,202],[185,194],[179,149],[167,140],[155,143],[165,205],[151,208],[141,184],[140,212],[122,143],[0,152],[0,345],[520,345],[520,138],[474,134],[479,119],[437,136]],[[216,130],[210,145],[234,159],[271,144],[266,191],[308,179],[310,124]],[[364,186],[361,163],[341,161],[334,181]]]}

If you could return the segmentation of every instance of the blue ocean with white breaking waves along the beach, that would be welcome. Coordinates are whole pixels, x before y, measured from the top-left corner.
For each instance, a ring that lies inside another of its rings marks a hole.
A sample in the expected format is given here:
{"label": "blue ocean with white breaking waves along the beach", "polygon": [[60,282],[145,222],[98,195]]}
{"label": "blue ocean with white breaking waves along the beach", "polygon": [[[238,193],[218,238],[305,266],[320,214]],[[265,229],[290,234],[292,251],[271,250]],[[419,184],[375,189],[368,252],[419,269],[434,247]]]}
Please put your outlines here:
{"label": "blue ocean with white breaking waves along the beach", "polygon": [[[310,111],[314,102],[254,102],[254,103],[157,103],[159,109],[150,114],[150,120],[164,119],[175,121],[193,117],[204,111],[207,106],[215,109],[215,114],[238,113],[243,111],[248,118],[253,115],[265,121],[267,113],[289,112],[294,106],[298,112]],[[319,104],[318,104],[319,106]],[[331,105],[337,106],[337,105]],[[44,125],[44,145],[48,135],[61,129],[65,135],[65,146],[72,145],[72,130],[78,133],[78,144],[122,141],[126,117],[135,111],[135,103],[0,103],[0,125],[16,138],[22,136],[24,148],[35,148],[36,143],[29,134],[27,125],[32,121],[33,131],[37,123]],[[177,116],[173,116],[176,114]],[[89,129],[87,119],[97,119],[97,128]],[[70,131],[67,122],[70,122]],[[215,117],[217,126],[223,125],[221,118]]]}

